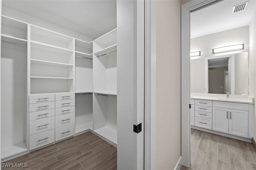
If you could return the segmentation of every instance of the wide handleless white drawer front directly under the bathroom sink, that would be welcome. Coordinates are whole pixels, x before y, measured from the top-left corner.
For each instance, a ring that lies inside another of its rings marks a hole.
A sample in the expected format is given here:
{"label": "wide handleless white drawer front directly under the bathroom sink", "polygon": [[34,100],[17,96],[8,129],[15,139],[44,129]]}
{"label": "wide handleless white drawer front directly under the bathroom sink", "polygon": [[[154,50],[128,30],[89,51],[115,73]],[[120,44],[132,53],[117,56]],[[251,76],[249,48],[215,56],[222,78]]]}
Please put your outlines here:
{"label": "wide handleless white drawer front directly under the bathroom sink", "polygon": [[213,101],[212,106],[213,107],[227,108],[227,109],[248,110],[248,104],[244,104],[244,103]]}

